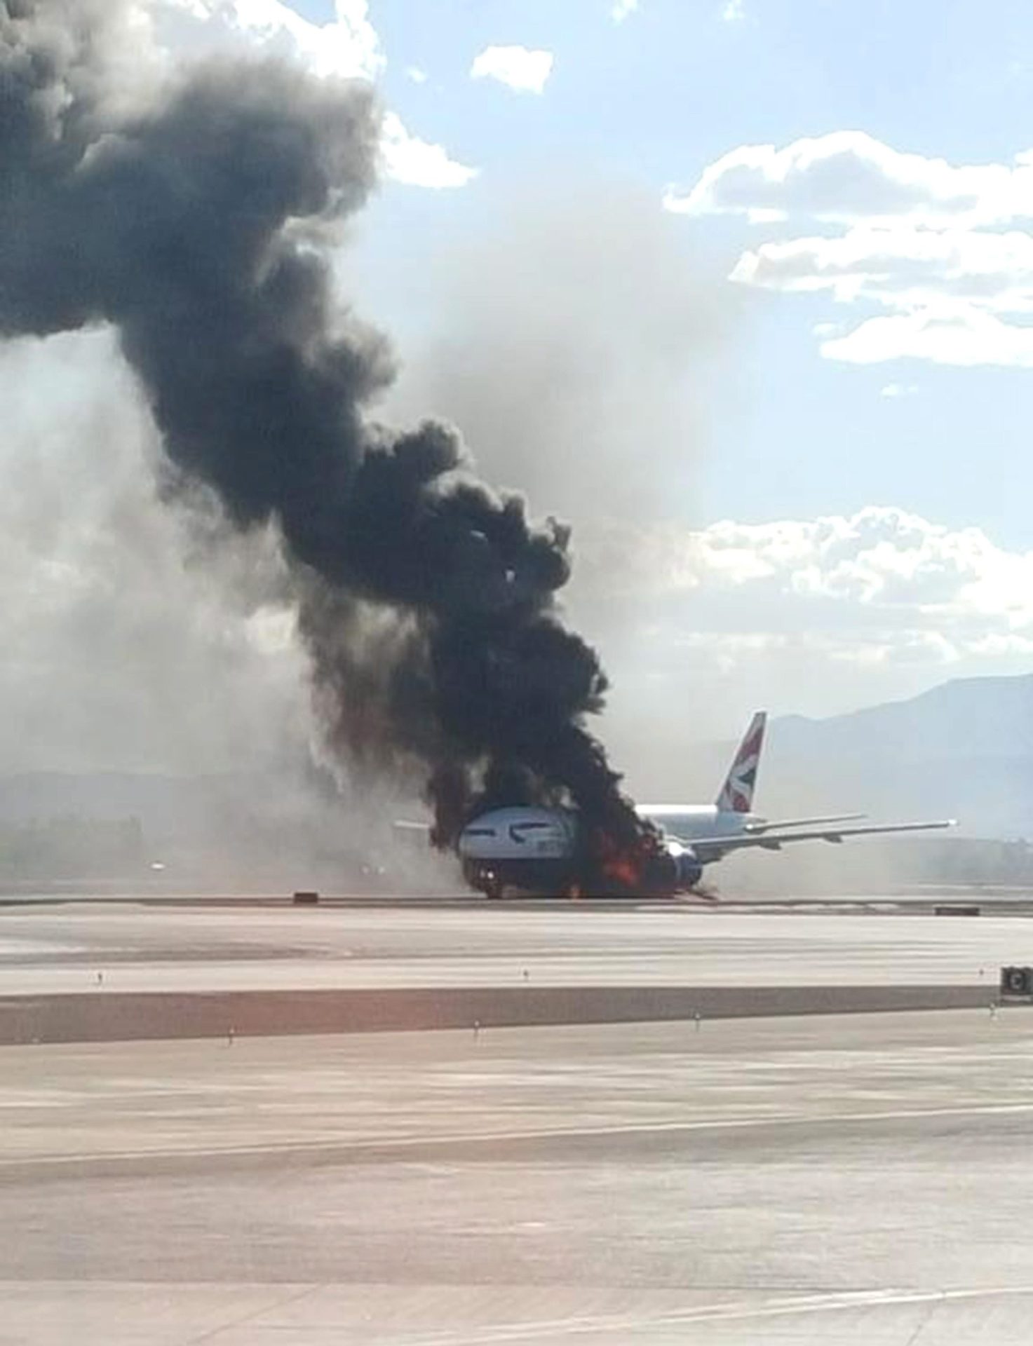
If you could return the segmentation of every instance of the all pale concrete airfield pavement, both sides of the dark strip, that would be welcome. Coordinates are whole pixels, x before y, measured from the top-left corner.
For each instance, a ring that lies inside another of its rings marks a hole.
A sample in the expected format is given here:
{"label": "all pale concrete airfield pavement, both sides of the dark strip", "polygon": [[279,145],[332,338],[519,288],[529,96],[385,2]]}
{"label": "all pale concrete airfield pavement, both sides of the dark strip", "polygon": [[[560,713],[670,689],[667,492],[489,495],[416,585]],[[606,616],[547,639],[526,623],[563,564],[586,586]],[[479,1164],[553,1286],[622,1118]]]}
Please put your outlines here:
{"label": "all pale concrete airfield pavement, both sides of the dark strip", "polygon": [[1033,1014],[989,1004],[1030,942],[995,917],[5,909],[24,1005],[972,1007],[0,1047],[0,1341],[1024,1339]]}

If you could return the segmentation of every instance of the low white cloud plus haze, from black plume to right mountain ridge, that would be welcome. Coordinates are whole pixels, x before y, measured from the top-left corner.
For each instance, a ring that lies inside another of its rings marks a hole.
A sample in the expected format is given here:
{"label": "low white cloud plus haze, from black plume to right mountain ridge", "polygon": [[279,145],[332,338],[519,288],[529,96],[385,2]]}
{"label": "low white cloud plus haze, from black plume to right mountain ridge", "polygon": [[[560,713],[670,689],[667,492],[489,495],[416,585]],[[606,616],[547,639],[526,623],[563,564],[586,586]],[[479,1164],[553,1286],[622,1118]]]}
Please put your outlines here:
{"label": "low white cloud plus haze, from black plume to right mountain ridge", "polygon": [[655,797],[677,789],[679,735],[730,735],[753,707],[834,715],[1033,666],[1033,551],[978,528],[882,506],[632,518],[579,525],[566,603],[613,680],[607,742]]}

